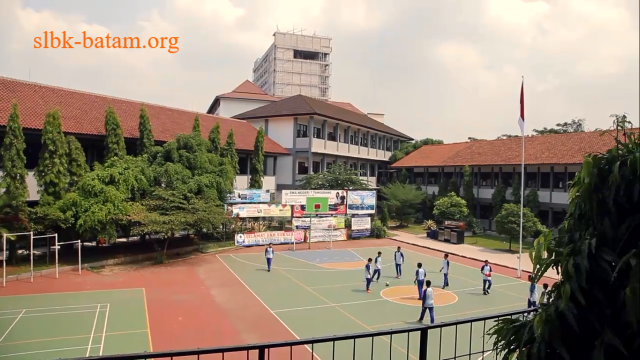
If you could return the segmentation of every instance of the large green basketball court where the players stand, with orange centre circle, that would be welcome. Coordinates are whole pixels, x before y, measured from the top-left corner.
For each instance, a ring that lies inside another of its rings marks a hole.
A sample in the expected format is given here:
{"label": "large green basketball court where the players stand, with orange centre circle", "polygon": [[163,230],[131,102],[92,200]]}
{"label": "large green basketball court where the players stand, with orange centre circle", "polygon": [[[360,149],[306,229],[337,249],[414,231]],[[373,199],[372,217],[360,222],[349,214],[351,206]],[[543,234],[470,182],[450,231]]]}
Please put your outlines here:
{"label": "large green basketball court where the players stand, with orange centre circle", "polygon": [[[382,251],[380,282],[365,291],[364,259]],[[393,265],[395,247],[278,252],[271,272],[262,253],[222,254],[218,257],[265,306],[297,337],[317,337],[419,325],[420,302],[413,285],[416,264],[427,270],[435,293],[436,322],[520,310],[527,305],[529,284],[494,273],[489,295],[482,293],[480,265],[470,267],[450,263],[449,283],[442,290],[439,273],[442,259],[403,249],[403,277],[396,279]],[[349,256],[351,255],[351,257]],[[389,286],[386,286],[389,282]],[[539,290],[540,292],[540,290]],[[425,318],[429,323],[429,316]],[[429,331],[429,358],[492,359],[491,339],[484,336],[493,322],[460,325]],[[265,330],[266,331],[266,330]],[[457,341],[456,341],[457,339]],[[394,335],[355,342],[315,345],[320,359],[371,358],[371,353],[390,359],[415,359],[419,333]]]}

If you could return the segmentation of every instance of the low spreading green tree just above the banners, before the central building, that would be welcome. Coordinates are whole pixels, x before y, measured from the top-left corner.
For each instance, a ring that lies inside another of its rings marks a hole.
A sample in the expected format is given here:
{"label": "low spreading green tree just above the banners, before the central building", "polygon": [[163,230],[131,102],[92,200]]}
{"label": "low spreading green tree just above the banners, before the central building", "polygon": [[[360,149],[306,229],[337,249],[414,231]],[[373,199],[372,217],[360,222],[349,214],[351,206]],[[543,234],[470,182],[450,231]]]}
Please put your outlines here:
{"label": "low spreading green tree just above the banners, before the central building", "polygon": [[344,164],[334,164],[327,171],[309,174],[300,182],[300,188],[305,190],[321,189],[366,189],[369,184],[360,178],[355,169]]}

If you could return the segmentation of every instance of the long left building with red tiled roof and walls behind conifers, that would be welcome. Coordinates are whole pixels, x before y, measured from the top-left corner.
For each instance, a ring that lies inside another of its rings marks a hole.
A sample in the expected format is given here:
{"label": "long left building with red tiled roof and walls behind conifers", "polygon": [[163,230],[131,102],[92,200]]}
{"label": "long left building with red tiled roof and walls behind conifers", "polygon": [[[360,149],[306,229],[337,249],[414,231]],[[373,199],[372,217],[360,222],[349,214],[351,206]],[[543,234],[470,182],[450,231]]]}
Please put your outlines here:
{"label": "long left building with red tiled roof and walls behind conifers", "polygon": [[[25,155],[29,201],[39,200],[38,186],[33,174],[42,147],[41,132],[46,114],[52,109],[60,111],[63,132],[78,139],[89,165],[104,160],[104,118],[109,106],[115,110],[120,120],[128,154],[135,154],[136,151],[142,106],[147,110],[151,130],[158,145],[173,140],[178,134],[190,133],[196,115],[200,119],[201,132],[205,138],[211,128],[219,123],[223,143],[229,130],[233,129],[235,134],[240,168],[235,187],[248,187],[249,166],[257,129],[245,121],[0,77],[0,141],[4,138],[7,119],[14,102],[19,107],[20,123],[27,145]],[[268,136],[264,140],[264,149],[263,188],[275,191],[278,159],[290,157],[290,153]]]}

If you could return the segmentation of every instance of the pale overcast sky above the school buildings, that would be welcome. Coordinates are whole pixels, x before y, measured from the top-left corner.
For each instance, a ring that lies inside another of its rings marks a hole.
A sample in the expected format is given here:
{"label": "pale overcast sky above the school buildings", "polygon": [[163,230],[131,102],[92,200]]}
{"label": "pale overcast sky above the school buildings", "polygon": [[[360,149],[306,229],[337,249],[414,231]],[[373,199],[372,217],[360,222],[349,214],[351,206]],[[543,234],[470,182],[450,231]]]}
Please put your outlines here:
{"label": "pale overcast sky above the school buildings", "polygon": [[[640,115],[638,0],[1,0],[0,75],[206,111],[280,30],[333,38],[332,100],[415,138]],[[43,31],[179,36],[180,50],[34,49]],[[30,70],[29,70],[30,69]]]}

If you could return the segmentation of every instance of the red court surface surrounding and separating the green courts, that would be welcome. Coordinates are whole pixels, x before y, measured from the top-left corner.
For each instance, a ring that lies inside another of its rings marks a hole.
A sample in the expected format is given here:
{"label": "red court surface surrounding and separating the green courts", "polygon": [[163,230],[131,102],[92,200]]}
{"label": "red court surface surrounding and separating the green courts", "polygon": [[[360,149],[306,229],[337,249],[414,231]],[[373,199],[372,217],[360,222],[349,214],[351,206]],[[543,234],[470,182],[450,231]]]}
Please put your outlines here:
{"label": "red court surface surrounding and separating the green courts", "polygon": [[[334,242],[334,249],[402,246],[403,249],[441,257],[442,253],[401,244],[389,239]],[[326,243],[312,244],[325,249]],[[287,246],[276,246],[276,252]],[[304,251],[308,244],[298,245]],[[240,248],[227,253],[261,253],[262,247]],[[451,255],[453,263],[473,267],[478,261]],[[516,277],[513,269],[492,265],[494,273]],[[527,273],[523,274],[526,279]],[[553,279],[542,282],[553,284]],[[34,282],[12,281],[0,288],[0,296],[81,292],[112,289],[144,288],[149,316],[152,350],[184,350],[203,347],[240,345],[279,340],[293,340],[295,335],[252,291],[215,255],[202,255],[165,265],[137,268],[109,274],[83,271],[61,273],[59,279],[37,277]],[[271,358],[289,358],[289,349],[271,353]],[[300,347],[293,358],[310,356]],[[253,354],[251,358],[257,357]],[[218,357],[214,357],[218,358]],[[235,357],[226,356],[225,359]],[[246,359],[246,354],[242,356]]]}

